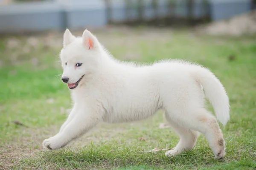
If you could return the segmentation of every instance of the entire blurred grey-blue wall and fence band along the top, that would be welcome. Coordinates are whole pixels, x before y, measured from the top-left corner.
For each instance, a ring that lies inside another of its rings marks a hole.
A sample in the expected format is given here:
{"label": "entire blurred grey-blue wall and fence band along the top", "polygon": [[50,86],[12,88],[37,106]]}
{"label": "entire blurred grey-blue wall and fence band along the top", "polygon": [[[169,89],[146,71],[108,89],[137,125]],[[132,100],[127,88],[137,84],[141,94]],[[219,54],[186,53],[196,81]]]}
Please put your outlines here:
{"label": "entire blurred grey-blue wall and fence band along the top", "polygon": [[49,0],[0,6],[0,33],[104,27],[108,24],[221,20],[250,11],[252,0]]}

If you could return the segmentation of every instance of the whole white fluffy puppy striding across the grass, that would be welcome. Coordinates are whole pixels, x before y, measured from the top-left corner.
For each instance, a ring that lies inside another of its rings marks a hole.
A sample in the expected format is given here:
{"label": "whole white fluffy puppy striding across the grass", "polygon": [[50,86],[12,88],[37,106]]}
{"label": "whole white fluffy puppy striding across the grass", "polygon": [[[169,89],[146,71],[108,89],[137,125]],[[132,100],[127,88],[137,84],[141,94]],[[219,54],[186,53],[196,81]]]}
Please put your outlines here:
{"label": "whole white fluffy puppy striding across the grass", "polygon": [[[64,147],[101,121],[141,120],[163,109],[180,136],[180,142],[166,156],[191,150],[197,131],[206,136],[216,159],[224,156],[223,135],[215,117],[205,109],[204,91],[223,125],[229,120],[229,99],[221,82],[207,68],[180,60],[141,66],[120,62],[87,30],[76,38],[65,31],[60,57],[62,76],[70,79],[68,83],[84,77],[70,90],[74,106],[67,121],[58,134],[44,140],[44,147]],[[76,67],[77,62],[82,66]]]}

